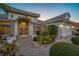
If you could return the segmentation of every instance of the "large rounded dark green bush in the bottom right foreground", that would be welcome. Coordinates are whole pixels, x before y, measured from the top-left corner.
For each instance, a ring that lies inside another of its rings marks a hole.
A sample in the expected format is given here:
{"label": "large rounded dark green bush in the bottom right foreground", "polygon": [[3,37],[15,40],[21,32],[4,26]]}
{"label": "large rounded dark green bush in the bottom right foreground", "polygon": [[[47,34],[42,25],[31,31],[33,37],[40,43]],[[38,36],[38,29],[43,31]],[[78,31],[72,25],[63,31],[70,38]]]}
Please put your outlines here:
{"label": "large rounded dark green bush in the bottom right foreground", "polygon": [[67,42],[54,44],[50,51],[50,56],[79,56],[79,47]]}

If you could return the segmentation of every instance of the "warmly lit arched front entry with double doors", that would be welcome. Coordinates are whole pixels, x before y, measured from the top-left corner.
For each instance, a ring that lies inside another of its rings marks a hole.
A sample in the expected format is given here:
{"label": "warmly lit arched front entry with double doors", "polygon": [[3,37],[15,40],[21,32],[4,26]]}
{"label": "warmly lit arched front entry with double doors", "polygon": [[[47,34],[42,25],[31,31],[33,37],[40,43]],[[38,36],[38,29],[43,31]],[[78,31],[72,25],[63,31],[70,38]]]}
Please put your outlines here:
{"label": "warmly lit arched front entry with double doors", "polygon": [[28,35],[29,22],[23,19],[19,20],[18,23],[19,35]]}

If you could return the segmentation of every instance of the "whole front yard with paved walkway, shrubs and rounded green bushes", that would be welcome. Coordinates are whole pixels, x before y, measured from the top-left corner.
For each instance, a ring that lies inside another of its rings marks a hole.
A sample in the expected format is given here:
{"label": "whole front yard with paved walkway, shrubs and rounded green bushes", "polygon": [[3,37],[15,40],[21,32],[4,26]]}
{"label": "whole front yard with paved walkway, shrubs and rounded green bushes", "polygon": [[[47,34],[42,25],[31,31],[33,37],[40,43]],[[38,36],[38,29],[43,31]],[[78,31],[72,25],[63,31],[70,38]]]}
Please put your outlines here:
{"label": "whole front yard with paved walkway, shrubs and rounded green bushes", "polygon": [[72,38],[66,37],[59,39],[60,41],[55,41],[56,29],[56,27],[50,26],[47,31],[38,32],[33,40],[31,37],[19,37],[12,44],[6,44],[1,40],[0,55],[16,56],[19,50],[21,56],[79,56],[79,36],[75,35]]}

